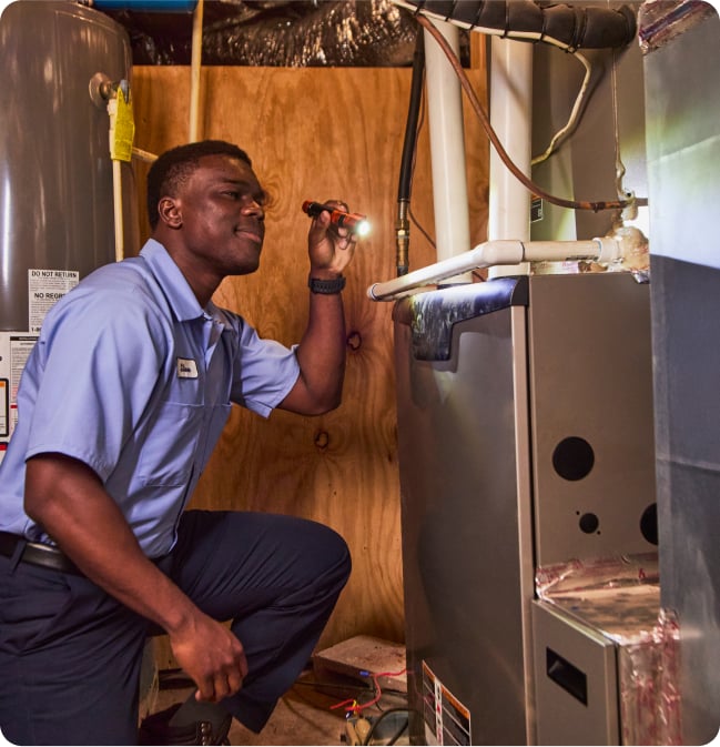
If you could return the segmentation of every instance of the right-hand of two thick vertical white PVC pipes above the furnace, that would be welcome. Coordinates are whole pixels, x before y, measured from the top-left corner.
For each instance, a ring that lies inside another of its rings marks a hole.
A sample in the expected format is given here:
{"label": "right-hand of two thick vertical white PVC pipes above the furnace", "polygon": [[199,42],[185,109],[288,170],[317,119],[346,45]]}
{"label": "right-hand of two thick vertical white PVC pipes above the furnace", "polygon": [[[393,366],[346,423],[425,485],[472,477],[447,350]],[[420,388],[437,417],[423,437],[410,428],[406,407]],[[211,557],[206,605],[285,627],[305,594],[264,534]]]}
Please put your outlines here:
{"label": "right-hand of two thick vertical white PVC pipes above the furnace", "polygon": [[[518,169],[530,176],[533,109],[533,44],[490,39],[490,124]],[[530,239],[530,193],[490,149],[487,236]],[[527,275],[529,264],[494,267],[488,277]]]}

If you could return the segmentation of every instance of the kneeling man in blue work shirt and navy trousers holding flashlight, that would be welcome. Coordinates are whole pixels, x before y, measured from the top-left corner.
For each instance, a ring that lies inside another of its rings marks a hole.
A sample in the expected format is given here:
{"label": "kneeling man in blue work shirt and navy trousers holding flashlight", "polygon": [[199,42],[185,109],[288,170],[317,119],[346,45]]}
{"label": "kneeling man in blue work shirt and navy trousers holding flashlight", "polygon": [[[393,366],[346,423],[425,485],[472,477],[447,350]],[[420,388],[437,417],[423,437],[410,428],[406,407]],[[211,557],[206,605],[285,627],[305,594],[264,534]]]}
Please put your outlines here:
{"label": "kneeling man in blue work shirt and navy trousers holding flashlight", "polygon": [[140,256],[100,267],[44,320],[0,466],[0,728],[17,744],[134,744],[149,632],[168,634],[196,693],[146,738],[190,728],[185,744],[219,744],[227,715],[260,731],[347,581],[325,526],[184,511],[232,402],[267,416],[341,401],[354,239],[327,212],[308,232],[298,345],[211,301],[257,269],[264,201],[235,145],[168,151],[148,175]]}

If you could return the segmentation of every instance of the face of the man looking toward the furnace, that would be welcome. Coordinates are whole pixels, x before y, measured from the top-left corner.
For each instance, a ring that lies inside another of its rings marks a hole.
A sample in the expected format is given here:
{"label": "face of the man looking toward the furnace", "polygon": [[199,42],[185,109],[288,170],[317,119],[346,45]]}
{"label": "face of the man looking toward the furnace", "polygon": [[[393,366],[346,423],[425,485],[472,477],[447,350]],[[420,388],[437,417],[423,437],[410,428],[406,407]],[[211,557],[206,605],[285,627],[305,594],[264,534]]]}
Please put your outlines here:
{"label": "face of the man looking toward the furnace", "polygon": [[[175,196],[182,263],[192,272],[244,275],[257,270],[265,236],[265,192],[244,162],[205,155]],[[180,258],[178,258],[180,259]]]}

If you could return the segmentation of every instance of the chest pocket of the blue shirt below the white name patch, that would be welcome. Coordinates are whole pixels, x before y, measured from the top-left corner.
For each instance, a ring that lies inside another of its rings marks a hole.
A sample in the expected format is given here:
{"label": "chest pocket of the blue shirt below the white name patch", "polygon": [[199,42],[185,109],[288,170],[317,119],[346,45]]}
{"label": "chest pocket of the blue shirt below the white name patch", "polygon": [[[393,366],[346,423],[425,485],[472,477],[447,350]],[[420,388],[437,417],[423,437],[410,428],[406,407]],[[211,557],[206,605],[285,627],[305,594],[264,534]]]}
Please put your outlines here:
{"label": "chest pocket of the blue shirt below the white name patch", "polygon": [[190,481],[202,438],[202,405],[161,405],[140,452],[138,477],[144,486],[174,487]]}

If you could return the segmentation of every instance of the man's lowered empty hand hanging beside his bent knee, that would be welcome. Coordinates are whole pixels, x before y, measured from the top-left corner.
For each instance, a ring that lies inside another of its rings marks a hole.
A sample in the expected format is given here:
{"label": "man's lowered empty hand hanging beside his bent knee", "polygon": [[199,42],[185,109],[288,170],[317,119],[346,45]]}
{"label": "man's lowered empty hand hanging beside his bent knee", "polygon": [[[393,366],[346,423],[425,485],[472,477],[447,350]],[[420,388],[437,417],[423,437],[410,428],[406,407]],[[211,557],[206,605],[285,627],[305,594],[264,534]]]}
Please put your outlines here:
{"label": "man's lowered empty hand hanging beside his bent knee", "polygon": [[245,652],[222,623],[197,610],[181,630],[170,634],[170,645],[178,664],[197,685],[197,700],[219,703],[242,687],[247,675]]}

